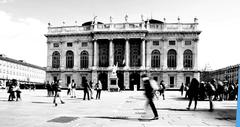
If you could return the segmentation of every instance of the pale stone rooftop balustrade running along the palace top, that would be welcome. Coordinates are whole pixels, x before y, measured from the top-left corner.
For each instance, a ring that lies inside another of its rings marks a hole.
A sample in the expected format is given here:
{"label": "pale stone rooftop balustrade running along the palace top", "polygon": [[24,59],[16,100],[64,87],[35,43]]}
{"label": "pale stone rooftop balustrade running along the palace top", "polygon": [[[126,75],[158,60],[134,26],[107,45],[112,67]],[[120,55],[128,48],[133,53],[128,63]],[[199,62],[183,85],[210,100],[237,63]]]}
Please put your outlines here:
{"label": "pale stone rooftop balustrade running along the palace top", "polygon": [[92,31],[122,31],[122,30],[148,30],[148,31],[197,31],[197,23],[108,23],[89,26],[62,26],[48,27],[48,34],[82,33]]}

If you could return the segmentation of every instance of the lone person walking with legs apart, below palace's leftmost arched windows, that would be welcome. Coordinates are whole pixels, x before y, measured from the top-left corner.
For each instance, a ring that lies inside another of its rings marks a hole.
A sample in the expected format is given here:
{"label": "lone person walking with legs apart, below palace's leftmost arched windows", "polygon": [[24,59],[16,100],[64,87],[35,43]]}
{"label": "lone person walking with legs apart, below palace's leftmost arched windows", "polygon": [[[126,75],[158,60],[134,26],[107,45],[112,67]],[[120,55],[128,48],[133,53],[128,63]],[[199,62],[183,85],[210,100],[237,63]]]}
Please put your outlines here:
{"label": "lone person walking with legs apart, below palace's leftmost arched windows", "polygon": [[53,90],[54,90],[54,93],[55,93],[53,103],[55,104],[55,106],[58,105],[57,102],[56,102],[57,97],[59,98],[59,100],[62,104],[65,103],[61,98],[61,82],[62,82],[62,80],[59,79],[59,80],[55,81],[54,84],[53,84]]}

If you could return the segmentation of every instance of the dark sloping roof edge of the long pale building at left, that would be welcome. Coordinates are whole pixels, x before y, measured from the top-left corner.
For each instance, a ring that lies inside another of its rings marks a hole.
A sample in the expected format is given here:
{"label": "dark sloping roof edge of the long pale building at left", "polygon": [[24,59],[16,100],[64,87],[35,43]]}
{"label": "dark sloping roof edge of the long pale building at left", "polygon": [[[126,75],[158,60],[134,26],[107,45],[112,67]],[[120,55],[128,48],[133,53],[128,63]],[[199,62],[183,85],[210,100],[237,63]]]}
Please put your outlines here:
{"label": "dark sloping roof edge of the long pale building at left", "polygon": [[44,71],[46,70],[46,68],[44,68],[44,67],[40,67],[40,66],[37,66],[37,65],[26,63],[23,60],[16,60],[16,59],[8,58],[4,55],[0,55],[0,60],[4,60],[4,61],[7,61],[7,62],[11,62],[11,63],[16,63],[16,64],[20,64],[20,65],[23,65],[23,66],[44,70]]}

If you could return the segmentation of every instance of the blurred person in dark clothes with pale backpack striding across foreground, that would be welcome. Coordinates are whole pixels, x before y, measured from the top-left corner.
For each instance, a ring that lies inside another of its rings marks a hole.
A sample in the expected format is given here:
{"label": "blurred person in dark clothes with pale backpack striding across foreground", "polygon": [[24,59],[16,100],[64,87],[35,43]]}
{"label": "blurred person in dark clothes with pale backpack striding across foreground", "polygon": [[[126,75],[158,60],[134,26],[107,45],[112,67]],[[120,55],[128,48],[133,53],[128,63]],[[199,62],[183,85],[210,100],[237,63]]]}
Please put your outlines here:
{"label": "blurred person in dark clothes with pale backpack striding across foreground", "polygon": [[154,97],[154,90],[150,84],[150,80],[149,77],[146,74],[143,74],[141,76],[142,80],[143,80],[143,85],[144,85],[144,90],[145,90],[145,96],[147,98],[147,103],[146,106],[150,105],[153,114],[154,114],[154,118],[153,120],[157,120],[158,119],[158,112],[156,110],[156,107],[153,103],[153,97]]}

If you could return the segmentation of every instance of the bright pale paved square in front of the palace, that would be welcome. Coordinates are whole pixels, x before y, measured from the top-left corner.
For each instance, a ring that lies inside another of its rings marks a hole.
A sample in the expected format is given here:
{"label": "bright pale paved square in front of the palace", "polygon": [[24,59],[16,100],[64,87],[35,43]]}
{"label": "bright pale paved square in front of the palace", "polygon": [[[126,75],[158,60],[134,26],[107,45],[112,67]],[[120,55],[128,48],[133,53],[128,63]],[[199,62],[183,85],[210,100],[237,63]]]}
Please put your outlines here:
{"label": "bright pale paved square in front of the palace", "polygon": [[[188,100],[179,91],[166,91],[166,100],[155,99],[158,120],[145,109],[142,91],[107,92],[101,100],[83,100],[83,91],[70,98],[63,90],[65,104],[55,107],[46,90],[22,91],[22,101],[8,102],[6,90],[0,90],[1,127],[234,127],[237,101],[214,101],[214,112],[208,112],[209,102],[198,101],[197,110],[187,111]],[[95,93],[94,93],[95,95]],[[193,105],[192,105],[193,108]],[[146,111],[146,112],[145,112]],[[142,118],[144,120],[139,120]],[[49,122],[49,121],[53,122]],[[55,122],[54,122],[55,121]],[[56,122],[57,121],[57,122]]]}

